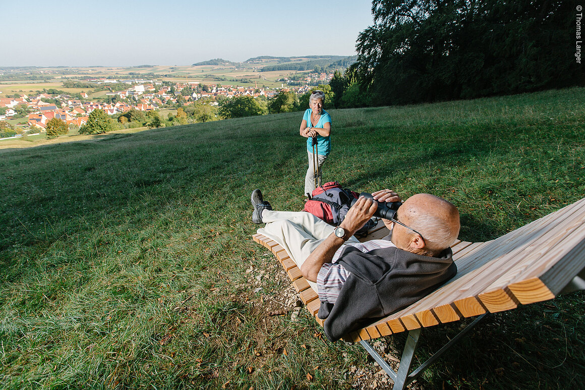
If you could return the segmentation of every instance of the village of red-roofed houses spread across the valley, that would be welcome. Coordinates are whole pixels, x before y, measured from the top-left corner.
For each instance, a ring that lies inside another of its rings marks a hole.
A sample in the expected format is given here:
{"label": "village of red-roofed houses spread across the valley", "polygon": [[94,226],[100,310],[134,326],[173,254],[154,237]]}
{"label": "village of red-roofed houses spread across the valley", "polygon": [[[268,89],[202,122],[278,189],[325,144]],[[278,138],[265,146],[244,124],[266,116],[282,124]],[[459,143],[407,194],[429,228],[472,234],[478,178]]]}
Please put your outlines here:
{"label": "village of red-roofed houses spread across the valley", "polygon": [[[61,119],[69,129],[80,129],[87,123],[89,115],[94,110],[103,110],[112,118],[119,119],[120,114],[131,110],[144,113],[159,111],[171,115],[169,112],[173,110],[176,112],[177,108],[192,104],[215,107],[222,101],[243,95],[265,101],[273,98],[280,91],[294,91],[302,95],[307,93],[311,86],[328,84],[332,77],[332,72],[307,72],[297,75],[294,81],[287,76],[274,77],[274,80],[259,77],[258,80],[243,80],[247,83],[237,84],[188,81],[187,77],[185,81],[170,81],[161,78],[87,77],[75,80],[77,85],[89,87],[86,88],[87,91],[78,93],[67,93],[61,90],[67,88],[43,88],[35,93],[21,91],[4,93],[2,91],[4,83],[2,83],[0,84],[0,124],[2,121],[12,122],[9,126],[2,126],[4,129],[10,128],[12,134],[0,134],[0,139],[8,138],[7,136],[42,134],[47,122],[53,118]],[[221,77],[218,79],[225,80]],[[272,81],[270,86],[266,85],[269,84],[267,81]],[[42,83],[30,85],[42,86]],[[92,87],[104,91],[105,94],[92,98],[90,95]],[[20,118],[20,120],[16,122],[15,118]],[[125,123],[122,120],[121,122]]]}

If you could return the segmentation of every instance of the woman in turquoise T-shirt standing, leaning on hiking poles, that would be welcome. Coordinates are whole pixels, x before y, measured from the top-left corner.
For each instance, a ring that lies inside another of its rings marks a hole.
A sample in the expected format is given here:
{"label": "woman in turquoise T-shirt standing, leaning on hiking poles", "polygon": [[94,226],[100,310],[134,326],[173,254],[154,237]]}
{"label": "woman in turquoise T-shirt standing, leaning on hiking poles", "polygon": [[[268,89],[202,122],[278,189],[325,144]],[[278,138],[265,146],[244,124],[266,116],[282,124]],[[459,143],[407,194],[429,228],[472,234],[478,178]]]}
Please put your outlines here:
{"label": "woman in turquoise T-shirt standing, leaning on hiking poles", "polygon": [[[309,167],[305,176],[305,194],[315,189],[314,164],[318,167],[318,178],[321,180],[322,166],[331,152],[331,117],[323,110],[325,93],[314,91],[309,97],[309,108],[302,117],[300,134],[307,138],[307,154]],[[313,138],[316,137],[316,161],[313,161]]]}

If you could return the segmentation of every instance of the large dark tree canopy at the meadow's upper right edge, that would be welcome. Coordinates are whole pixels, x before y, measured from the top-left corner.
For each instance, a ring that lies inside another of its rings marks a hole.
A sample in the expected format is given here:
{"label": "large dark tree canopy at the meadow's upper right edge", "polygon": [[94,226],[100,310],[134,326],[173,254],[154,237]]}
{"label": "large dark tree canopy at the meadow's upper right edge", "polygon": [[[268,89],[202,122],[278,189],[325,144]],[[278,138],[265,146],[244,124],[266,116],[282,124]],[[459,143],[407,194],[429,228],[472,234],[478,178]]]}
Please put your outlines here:
{"label": "large dark tree canopy at the meadow's upper right edge", "polygon": [[583,85],[563,0],[374,0],[348,73],[377,104]]}

